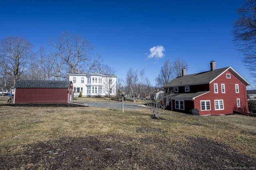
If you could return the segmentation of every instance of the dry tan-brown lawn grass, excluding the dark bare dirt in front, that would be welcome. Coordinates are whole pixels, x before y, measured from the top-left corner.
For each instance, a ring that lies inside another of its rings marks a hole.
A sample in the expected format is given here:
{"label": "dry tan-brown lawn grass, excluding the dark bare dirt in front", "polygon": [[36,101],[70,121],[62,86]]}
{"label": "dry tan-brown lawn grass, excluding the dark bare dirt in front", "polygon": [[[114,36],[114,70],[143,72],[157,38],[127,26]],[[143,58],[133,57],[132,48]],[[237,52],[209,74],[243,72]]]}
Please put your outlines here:
{"label": "dry tan-brown lawn grass, excluding the dark bare dirt in front", "polygon": [[[0,98],[0,102],[4,102],[3,99]],[[124,113],[121,113],[121,109],[114,108],[0,106],[0,154],[2,155],[2,157],[0,155],[0,162],[1,158],[2,161],[6,161],[4,160],[6,155],[24,155],[28,148],[33,148],[32,146],[39,145],[39,143],[50,143],[50,141],[57,143],[56,141],[60,139],[63,141],[63,139],[75,140],[85,137],[94,137],[98,142],[104,137],[103,141],[112,143],[111,145],[117,148],[120,146],[120,150],[126,146],[131,149],[139,147],[140,152],[137,154],[141,159],[145,155],[148,155],[150,159],[153,157],[157,159],[166,154],[166,158],[171,159],[172,165],[178,169],[187,166],[186,164],[178,166],[181,164],[178,154],[184,151],[174,150],[173,147],[189,147],[188,150],[190,150],[191,141],[197,139],[200,139],[200,142],[224,145],[224,150],[226,150],[226,146],[230,147],[235,150],[234,153],[251,156],[255,161],[256,117],[243,115],[194,116],[167,110],[160,115],[161,120],[151,119],[150,115],[152,113],[145,109],[126,109]],[[203,143],[198,143],[198,146],[200,145]],[[158,147],[160,150],[152,152],[154,148]],[[162,147],[170,150],[167,153]],[[211,148],[211,146],[209,147]],[[214,152],[214,148],[212,149]],[[35,152],[35,150],[32,149],[31,152]],[[115,155],[119,154],[121,153],[115,153]],[[12,158],[12,156],[10,157]],[[144,161],[141,163],[145,164]],[[119,166],[124,169],[125,167],[127,169],[143,169],[142,167],[148,167],[138,164],[136,168],[133,162],[134,166],[131,168],[128,163],[127,166],[121,166],[121,163],[124,162],[120,162],[116,166],[113,165],[112,168],[118,169]],[[217,163],[219,164],[219,162]],[[79,165],[77,169],[80,169],[79,167],[82,165]],[[220,165],[222,168],[224,167],[223,164]],[[26,166],[29,167],[28,164]],[[38,166],[31,165],[35,169],[38,169]],[[192,164],[192,167],[196,166],[198,165]],[[49,168],[49,166],[43,167]],[[95,167],[92,169],[97,169],[96,165]],[[102,169],[102,167],[98,168]],[[168,166],[161,165],[160,167],[167,168]],[[199,169],[206,167],[208,166],[202,166]],[[106,166],[103,169],[112,168]]]}

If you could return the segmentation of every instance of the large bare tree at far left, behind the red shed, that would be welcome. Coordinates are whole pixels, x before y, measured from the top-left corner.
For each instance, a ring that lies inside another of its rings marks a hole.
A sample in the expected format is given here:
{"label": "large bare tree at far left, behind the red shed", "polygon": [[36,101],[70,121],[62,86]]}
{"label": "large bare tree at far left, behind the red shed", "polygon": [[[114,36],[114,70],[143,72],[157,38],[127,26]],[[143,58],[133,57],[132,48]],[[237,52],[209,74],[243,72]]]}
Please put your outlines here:
{"label": "large bare tree at far left, behind the red shed", "polygon": [[7,37],[0,42],[0,66],[6,70],[12,85],[32,68],[33,45],[23,37]]}

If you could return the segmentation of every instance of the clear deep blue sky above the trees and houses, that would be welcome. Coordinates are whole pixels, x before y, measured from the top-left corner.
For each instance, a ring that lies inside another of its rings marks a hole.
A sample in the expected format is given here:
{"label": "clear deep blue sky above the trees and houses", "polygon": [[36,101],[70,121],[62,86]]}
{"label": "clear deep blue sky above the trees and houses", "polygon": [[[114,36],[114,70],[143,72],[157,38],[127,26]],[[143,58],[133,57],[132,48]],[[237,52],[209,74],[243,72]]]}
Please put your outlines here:
{"label": "clear deep blue sky above the trees and houses", "polygon": [[[84,35],[104,63],[125,79],[145,69],[154,84],[166,59],[180,57],[187,74],[232,66],[254,88],[254,78],[232,42],[242,0],[23,0],[0,3],[0,39],[21,35],[34,50],[62,31]],[[162,49],[152,54],[152,48]],[[160,48],[157,48],[160,47]],[[162,52],[162,55],[161,55]],[[157,55],[158,54],[158,55]]]}

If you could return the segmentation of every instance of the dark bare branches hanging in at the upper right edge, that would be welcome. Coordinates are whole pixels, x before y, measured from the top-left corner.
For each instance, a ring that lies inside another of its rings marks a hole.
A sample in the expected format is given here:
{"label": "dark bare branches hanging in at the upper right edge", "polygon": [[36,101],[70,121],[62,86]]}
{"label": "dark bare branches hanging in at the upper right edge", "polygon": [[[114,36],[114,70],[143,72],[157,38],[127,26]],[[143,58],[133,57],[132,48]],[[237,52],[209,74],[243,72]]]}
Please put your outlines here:
{"label": "dark bare branches hanging in at the upper right edge", "polygon": [[233,41],[244,55],[246,67],[256,76],[256,0],[244,0],[237,12],[239,18],[234,22]]}

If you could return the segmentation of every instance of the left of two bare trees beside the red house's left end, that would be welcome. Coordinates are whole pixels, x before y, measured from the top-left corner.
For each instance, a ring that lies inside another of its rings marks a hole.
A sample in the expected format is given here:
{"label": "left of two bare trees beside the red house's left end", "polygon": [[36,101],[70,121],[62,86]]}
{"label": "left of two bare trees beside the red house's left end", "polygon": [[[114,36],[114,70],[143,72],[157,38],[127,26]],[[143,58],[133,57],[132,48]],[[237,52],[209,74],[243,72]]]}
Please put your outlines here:
{"label": "left of two bare trees beside the red house's left end", "polygon": [[160,73],[156,77],[156,84],[158,87],[164,86],[164,84],[170,82],[173,77],[173,66],[169,60],[164,62],[164,65],[161,67]]}

